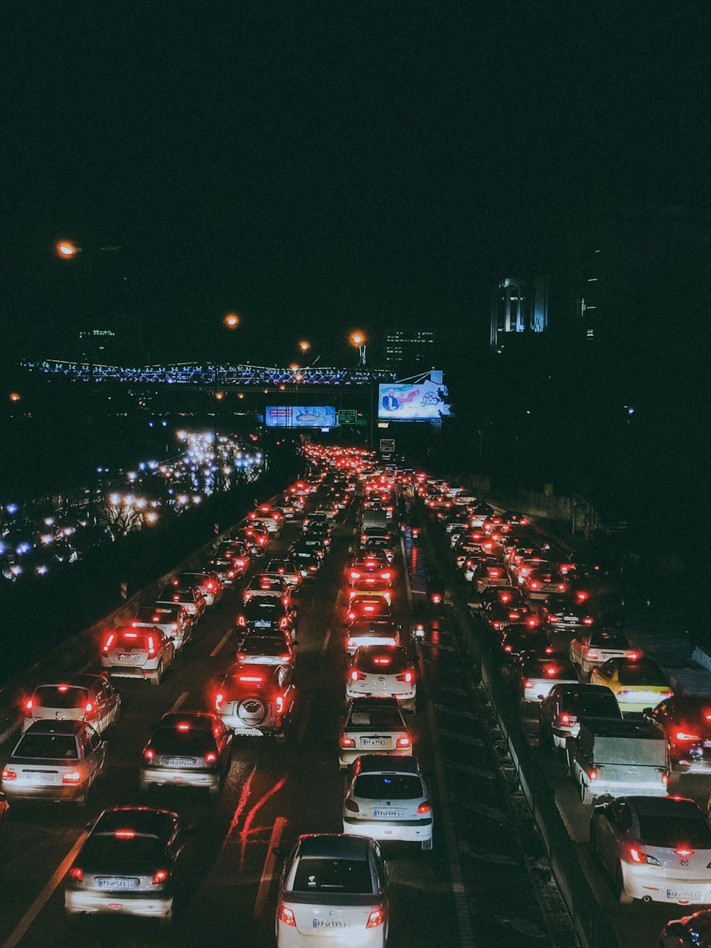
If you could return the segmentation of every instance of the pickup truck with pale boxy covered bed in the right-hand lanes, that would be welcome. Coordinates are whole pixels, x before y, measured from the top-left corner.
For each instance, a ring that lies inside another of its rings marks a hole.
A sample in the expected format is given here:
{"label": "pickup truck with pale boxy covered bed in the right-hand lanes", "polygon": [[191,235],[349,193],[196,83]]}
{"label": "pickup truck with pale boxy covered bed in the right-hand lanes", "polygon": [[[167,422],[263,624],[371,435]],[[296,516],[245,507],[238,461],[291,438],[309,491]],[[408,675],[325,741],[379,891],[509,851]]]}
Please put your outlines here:
{"label": "pickup truck with pale boxy covered bed in the right-hand lanes", "polygon": [[565,755],[583,803],[600,796],[667,795],[667,740],[647,722],[582,720],[578,737],[565,741]]}

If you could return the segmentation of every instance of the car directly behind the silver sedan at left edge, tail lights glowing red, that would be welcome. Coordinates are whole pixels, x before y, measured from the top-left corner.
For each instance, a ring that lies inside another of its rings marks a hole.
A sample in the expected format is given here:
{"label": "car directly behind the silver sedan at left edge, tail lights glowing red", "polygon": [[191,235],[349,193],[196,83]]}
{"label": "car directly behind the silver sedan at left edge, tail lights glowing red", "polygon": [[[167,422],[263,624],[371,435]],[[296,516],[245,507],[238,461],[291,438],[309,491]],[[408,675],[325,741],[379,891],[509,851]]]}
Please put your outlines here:
{"label": "car directly behind the silver sedan at left edge, tail lights glowing red", "polygon": [[103,675],[67,675],[58,684],[38,684],[23,702],[22,729],[36,720],[83,720],[101,734],[118,720],[121,696]]}

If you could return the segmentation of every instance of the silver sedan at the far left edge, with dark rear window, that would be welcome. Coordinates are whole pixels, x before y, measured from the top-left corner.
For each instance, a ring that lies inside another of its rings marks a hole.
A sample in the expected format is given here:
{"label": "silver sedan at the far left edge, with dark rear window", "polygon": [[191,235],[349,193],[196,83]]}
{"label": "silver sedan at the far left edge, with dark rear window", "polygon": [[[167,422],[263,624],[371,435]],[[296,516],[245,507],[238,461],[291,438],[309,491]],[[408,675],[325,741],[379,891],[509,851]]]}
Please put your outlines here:
{"label": "silver sedan at the far left edge, with dark rear window", "polygon": [[2,789],[9,800],[86,804],[106,769],[106,741],[82,720],[37,720],[9,756]]}

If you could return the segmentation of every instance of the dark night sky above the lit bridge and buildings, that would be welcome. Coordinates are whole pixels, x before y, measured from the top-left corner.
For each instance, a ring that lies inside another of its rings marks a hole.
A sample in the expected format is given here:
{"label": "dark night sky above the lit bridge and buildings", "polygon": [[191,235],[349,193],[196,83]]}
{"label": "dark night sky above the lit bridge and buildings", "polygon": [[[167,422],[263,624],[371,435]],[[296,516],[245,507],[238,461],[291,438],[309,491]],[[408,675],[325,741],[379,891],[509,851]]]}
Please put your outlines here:
{"label": "dark night sky above the lit bridge and buildings", "polygon": [[86,319],[135,361],[332,363],[413,320],[475,357],[491,284],[581,210],[709,207],[705,2],[29,6],[0,49],[5,359]]}

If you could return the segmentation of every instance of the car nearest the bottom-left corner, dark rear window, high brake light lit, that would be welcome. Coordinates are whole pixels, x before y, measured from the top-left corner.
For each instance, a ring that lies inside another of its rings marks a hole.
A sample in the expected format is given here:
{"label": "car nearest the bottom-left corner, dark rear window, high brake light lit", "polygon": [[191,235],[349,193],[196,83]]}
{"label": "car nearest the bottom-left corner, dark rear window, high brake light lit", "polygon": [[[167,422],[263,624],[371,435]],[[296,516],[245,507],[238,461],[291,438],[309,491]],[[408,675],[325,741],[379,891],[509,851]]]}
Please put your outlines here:
{"label": "car nearest the bottom-left corner, dark rear window, high brake light lit", "polygon": [[189,877],[190,828],[149,807],[105,810],[69,869],[64,911],[170,921]]}

